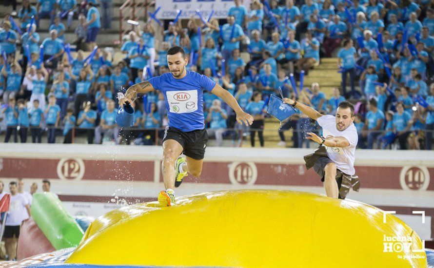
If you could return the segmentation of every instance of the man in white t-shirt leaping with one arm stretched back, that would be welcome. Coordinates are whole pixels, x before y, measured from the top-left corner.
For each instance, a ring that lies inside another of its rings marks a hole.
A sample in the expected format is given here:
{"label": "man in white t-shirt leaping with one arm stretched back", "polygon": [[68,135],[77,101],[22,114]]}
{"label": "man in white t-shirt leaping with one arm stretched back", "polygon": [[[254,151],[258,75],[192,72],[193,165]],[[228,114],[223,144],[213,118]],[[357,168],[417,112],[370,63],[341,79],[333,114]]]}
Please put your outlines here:
{"label": "man in white t-shirt leaping with one arm stretched back", "polygon": [[307,139],[322,146],[316,153],[305,156],[305,160],[306,167],[314,167],[315,172],[321,177],[327,196],[345,199],[350,187],[358,191],[360,184],[354,169],[358,135],[353,123],[353,104],[348,101],[340,102],[336,116],[333,116],[321,115],[315,109],[296,100],[284,98],[283,101],[316,120],[322,127],[323,136],[307,133]]}

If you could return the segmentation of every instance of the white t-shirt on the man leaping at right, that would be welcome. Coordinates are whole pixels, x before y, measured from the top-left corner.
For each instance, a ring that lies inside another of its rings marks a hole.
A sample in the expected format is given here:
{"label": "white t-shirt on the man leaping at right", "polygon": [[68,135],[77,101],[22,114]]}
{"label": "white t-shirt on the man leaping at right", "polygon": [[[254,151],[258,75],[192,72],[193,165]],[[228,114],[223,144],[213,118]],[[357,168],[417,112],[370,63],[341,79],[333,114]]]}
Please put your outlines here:
{"label": "white t-shirt on the man leaping at right", "polygon": [[355,160],[355,146],[357,145],[358,135],[354,123],[351,123],[344,131],[336,129],[336,117],[333,115],[323,115],[317,120],[318,124],[322,127],[322,134],[327,137],[344,137],[350,143],[350,146],[345,148],[340,147],[327,147],[327,156],[335,163],[336,168],[340,171],[354,175],[354,160]]}

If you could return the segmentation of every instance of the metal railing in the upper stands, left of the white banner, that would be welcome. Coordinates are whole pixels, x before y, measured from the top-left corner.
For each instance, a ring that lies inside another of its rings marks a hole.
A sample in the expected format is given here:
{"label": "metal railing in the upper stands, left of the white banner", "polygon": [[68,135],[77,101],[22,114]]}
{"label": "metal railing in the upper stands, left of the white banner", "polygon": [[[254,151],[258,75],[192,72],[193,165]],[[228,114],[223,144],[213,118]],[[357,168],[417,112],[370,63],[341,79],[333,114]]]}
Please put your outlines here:
{"label": "metal railing in the upper stands, left of the white banner", "polygon": [[122,41],[122,36],[127,32],[134,30],[134,25],[127,23],[127,20],[146,21],[148,8],[154,3],[154,0],[126,0],[119,7],[119,41]]}

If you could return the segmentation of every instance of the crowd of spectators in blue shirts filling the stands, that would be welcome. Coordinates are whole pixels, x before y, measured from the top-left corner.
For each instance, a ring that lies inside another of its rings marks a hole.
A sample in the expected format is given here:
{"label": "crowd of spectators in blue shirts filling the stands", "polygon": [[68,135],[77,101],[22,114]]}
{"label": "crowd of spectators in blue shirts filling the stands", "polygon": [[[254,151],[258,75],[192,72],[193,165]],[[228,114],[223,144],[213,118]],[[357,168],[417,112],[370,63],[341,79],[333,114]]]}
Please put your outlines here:
{"label": "crowd of spectators in blue shirts filling the stands", "polygon": [[[49,28],[51,37],[40,40],[36,31],[37,22],[29,27],[32,24],[31,17],[37,12],[42,16],[44,12],[51,16],[52,10],[77,11],[74,8],[77,2],[39,0],[38,3],[37,8],[23,6],[19,12],[23,35],[20,36],[10,22],[2,24],[2,51],[6,55],[14,55],[17,50],[15,41],[20,40],[22,59],[17,61],[15,57],[8,56],[5,62],[0,57],[1,70],[4,69],[6,74],[0,76],[0,91],[4,92],[3,105],[7,105],[8,97],[14,94],[17,100],[27,99],[28,113],[33,110],[35,99],[45,105],[41,94],[45,97],[49,94],[56,96],[56,105],[60,108],[59,125],[66,128],[67,131],[63,131],[65,136],[73,129],[71,126],[82,128],[83,131],[98,127],[102,115],[107,114],[104,113],[107,101],[116,101],[119,91],[124,91],[133,83],[167,73],[166,50],[178,45],[183,47],[189,58],[188,70],[212,78],[231,92],[244,109],[252,107],[249,104],[255,102],[252,99],[255,92],[260,92],[262,101],[266,103],[270,95],[280,96],[279,87],[283,96],[298,97],[318,111],[332,115],[340,101],[351,99],[360,102],[356,107],[359,108],[360,124],[364,124],[360,128],[362,148],[387,148],[383,144],[391,145],[396,140],[402,149],[431,149],[434,129],[434,11],[430,1],[252,0],[251,6],[246,7],[240,0],[234,0],[235,5],[229,9],[226,19],[189,19],[186,28],[181,26],[181,20],[166,23],[165,27],[151,20],[142,29],[137,27],[137,31],[131,32],[122,43],[120,50],[125,58],[117,64],[109,59],[109,51],[102,49],[95,51],[91,58],[84,57],[81,51],[74,54],[77,56],[69,57],[68,42],[71,40],[64,38],[68,25],[65,27],[62,23],[66,17],[52,16]],[[101,27],[99,11],[94,4],[84,13],[86,20],[91,21],[88,28]],[[97,19],[93,20],[94,17]],[[157,30],[161,31],[163,38],[156,47]],[[98,31],[91,32],[98,34]],[[241,55],[246,52],[250,57]],[[297,94],[293,89],[290,75],[294,74],[298,80],[302,74],[308,75],[321,57],[333,56],[339,59],[341,88],[336,89],[329,99],[319,90],[319,85],[302,89],[303,96],[298,96],[301,92]],[[12,64],[20,64],[22,72],[12,71]],[[143,74],[144,67],[148,67],[147,74]],[[46,81],[45,76],[29,78],[36,77],[39,70],[45,69],[48,70]],[[60,81],[56,77],[59,74],[62,74]],[[350,85],[348,91],[347,82]],[[356,89],[357,84],[359,90]],[[29,88],[33,88],[33,92]],[[204,92],[203,97],[207,118],[217,97],[208,92]],[[378,113],[375,116],[383,113],[381,126],[375,124],[376,117],[368,111],[367,107],[372,106],[369,105],[371,99],[375,99],[377,105]],[[84,113],[87,102],[90,102],[90,109],[95,113]],[[135,103],[138,113],[134,127],[155,129],[167,125],[163,103],[164,96],[159,94],[148,94]],[[401,103],[404,110],[402,115],[398,112]],[[72,115],[68,116],[69,106],[73,106],[73,109]],[[42,111],[45,109],[39,108]],[[7,110],[9,117],[5,118],[10,120],[6,120],[6,125],[19,125],[15,124],[11,111],[13,109]],[[226,117],[225,127],[237,128],[234,112],[224,103],[222,111]],[[263,109],[258,111],[264,113]],[[390,120],[392,123],[387,120],[389,112],[394,113]],[[211,115],[211,118],[216,116]],[[44,116],[40,117],[43,121],[40,127],[46,126],[48,122],[43,120]],[[222,118],[217,121],[213,126],[223,126]],[[405,127],[402,125],[404,121]],[[104,122],[111,123],[110,120]],[[207,122],[207,127],[211,127],[211,122]],[[263,128],[263,125],[257,127]],[[297,133],[294,147],[301,147],[304,141],[301,133],[316,126],[301,117],[289,127]],[[88,142],[93,142],[95,134],[85,132]],[[384,138],[387,135],[383,134],[389,132],[392,133],[389,136],[394,138],[386,141],[391,142],[377,143],[376,139]],[[127,142],[133,142],[136,138],[143,142],[144,136],[155,136],[152,131],[142,134],[134,130],[128,135]],[[151,138],[151,143],[155,142],[154,138]],[[284,137],[281,142],[284,142]]]}

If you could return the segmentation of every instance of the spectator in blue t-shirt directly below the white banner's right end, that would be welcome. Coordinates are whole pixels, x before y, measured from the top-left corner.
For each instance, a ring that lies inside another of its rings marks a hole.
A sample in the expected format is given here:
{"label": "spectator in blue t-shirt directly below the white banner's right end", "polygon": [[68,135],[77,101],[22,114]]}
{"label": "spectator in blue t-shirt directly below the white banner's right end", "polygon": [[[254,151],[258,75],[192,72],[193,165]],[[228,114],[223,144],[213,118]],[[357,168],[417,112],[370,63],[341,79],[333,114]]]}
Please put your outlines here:
{"label": "spectator in blue t-shirt directly below the white banner's right end", "polygon": [[220,34],[223,40],[221,55],[227,61],[231,57],[232,51],[239,49],[239,41],[244,39],[244,32],[241,26],[235,23],[235,17],[228,16],[228,23],[221,27]]}

